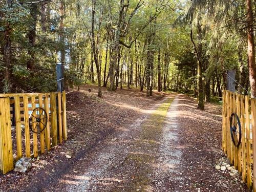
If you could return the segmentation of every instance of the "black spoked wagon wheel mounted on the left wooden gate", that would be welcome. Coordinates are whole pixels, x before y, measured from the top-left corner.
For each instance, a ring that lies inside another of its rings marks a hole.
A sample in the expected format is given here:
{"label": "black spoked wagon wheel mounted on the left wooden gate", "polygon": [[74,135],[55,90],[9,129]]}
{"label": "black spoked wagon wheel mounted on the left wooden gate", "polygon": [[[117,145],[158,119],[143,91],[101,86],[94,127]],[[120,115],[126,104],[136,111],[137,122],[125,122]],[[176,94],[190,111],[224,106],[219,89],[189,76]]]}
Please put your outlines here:
{"label": "black spoked wagon wheel mounted on the left wooden gate", "polygon": [[42,108],[35,108],[29,115],[29,128],[34,133],[40,133],[46,129],[48,122],[47,113]]}

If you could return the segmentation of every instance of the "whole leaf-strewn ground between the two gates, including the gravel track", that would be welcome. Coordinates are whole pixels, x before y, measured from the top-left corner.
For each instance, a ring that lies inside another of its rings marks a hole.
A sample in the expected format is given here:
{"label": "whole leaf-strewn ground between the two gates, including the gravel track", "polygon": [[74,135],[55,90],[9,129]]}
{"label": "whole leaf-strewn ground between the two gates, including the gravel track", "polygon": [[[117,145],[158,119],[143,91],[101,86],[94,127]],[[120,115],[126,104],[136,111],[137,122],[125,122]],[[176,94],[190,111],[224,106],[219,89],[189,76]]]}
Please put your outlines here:
{"label": "whole leaf-strewn ground between the two gates, including the gravel track", "polygon": [[68,96],[69,140],[31,172],[3,177],[3,191],[248,191],[215,169],[224,157],[220,105],[200,111],[185,95],[104,93]]}

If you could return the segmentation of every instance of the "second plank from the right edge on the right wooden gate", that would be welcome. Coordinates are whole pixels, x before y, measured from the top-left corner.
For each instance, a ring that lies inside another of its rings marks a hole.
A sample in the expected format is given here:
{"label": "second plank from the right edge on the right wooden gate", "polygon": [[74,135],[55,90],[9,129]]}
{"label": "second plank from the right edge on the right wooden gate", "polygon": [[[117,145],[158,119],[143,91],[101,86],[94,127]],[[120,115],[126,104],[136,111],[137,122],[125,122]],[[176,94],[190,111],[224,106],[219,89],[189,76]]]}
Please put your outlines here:
{"label": "second plank from the right edge on the right wooden gate", "polygon": [[245,96],[245,128],[246,128],[246,181],[247,187],[251,186],[251,163],[250,163],[250,113],[249,96]]}

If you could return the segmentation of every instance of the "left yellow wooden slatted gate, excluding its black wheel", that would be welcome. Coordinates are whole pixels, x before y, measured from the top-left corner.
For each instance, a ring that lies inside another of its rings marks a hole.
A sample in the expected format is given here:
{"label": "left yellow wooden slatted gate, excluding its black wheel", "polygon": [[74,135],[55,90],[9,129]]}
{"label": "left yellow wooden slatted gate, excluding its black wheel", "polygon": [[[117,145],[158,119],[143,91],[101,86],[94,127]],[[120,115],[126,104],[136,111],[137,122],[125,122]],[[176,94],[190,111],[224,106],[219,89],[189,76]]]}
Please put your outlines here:
{"label": "left yellow wooden slatted gate, excluding its black wheel", "polygon": [[[29,115],[42,108],[47,116],[40,133],[30,130]],[[37,157],[67,140],[66,93],[0,94],[0,169],[6,174],[23,156]]]}

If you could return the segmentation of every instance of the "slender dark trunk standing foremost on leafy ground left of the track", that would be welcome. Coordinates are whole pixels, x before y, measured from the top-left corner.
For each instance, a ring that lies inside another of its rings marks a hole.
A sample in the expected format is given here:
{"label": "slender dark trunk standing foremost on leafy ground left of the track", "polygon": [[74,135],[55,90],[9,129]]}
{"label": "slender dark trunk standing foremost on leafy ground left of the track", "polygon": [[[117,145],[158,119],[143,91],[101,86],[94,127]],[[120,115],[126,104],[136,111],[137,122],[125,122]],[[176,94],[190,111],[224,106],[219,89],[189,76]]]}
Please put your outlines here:
{"label": "slender dark trunk standing foremost on leafy ground left of the track", "polygon": [[96,53],[96,46],[95,46],[95,35],[94,35],[94,17],[95,17],[95,5],[96,5],[96,0],[92,0],[93,6],[92,6],[92,49],[93,49],[93,57],[94,57],[94,62],[96,65],[97,69],[97,77],[98,77],[98,97],[102,96],[101,93],[101,71],[99,67],[99,62],[98,62],[98,55]]}

